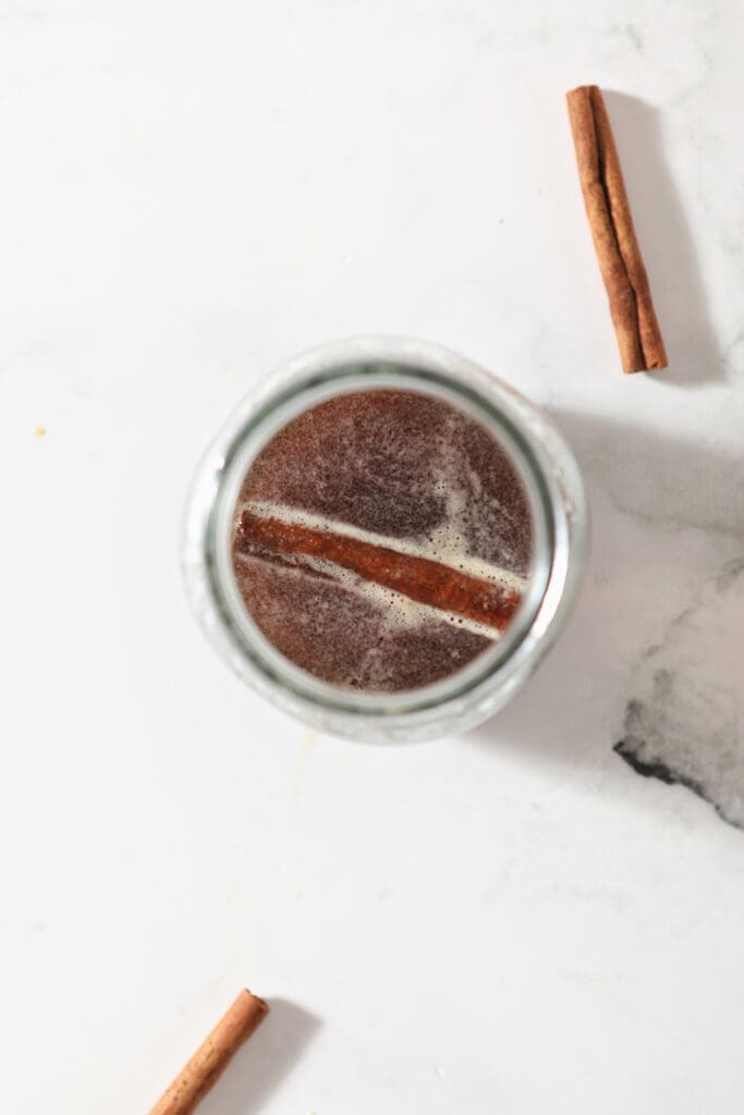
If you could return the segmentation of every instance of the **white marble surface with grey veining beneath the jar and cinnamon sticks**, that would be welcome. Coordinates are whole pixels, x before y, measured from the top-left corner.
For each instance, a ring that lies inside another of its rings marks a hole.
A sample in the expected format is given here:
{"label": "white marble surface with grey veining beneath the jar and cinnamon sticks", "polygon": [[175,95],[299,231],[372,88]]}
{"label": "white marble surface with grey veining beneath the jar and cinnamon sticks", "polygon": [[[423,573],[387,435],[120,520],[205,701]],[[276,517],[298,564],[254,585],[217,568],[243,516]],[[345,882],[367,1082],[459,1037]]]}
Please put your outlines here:
{"label": "white marble surface with grey veining beneath the jar and cinnamon sticks", "polygon": [[[613,746],[741,822],[743,33],[735,0],[0,6],[3,1111],[145,1112],[244,982],[274,1011],[204,1115],[741,1108],[744,832]],[[618,370],[583,81],[654,377]],[[178,575],[216,424],[367,331],[550,408],[595,520],[533,683],[410,748],[258,704]]]}

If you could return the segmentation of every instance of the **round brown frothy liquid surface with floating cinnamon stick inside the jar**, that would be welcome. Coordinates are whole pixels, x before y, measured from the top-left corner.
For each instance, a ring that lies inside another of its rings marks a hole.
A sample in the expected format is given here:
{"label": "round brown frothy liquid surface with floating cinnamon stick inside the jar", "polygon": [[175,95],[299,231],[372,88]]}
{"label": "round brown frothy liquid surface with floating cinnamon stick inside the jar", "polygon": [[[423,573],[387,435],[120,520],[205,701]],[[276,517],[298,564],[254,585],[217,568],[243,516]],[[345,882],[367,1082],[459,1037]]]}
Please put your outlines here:
{"label": "round brown frothy liquid surface with floating cinnamon stick inside the jar", "polygon": [[290,421],[249,468],[233,521],[238,586],[265,638],[365,692],[431,685],[492,647],[531,554],[503,447],[414,391],[341,395]]}

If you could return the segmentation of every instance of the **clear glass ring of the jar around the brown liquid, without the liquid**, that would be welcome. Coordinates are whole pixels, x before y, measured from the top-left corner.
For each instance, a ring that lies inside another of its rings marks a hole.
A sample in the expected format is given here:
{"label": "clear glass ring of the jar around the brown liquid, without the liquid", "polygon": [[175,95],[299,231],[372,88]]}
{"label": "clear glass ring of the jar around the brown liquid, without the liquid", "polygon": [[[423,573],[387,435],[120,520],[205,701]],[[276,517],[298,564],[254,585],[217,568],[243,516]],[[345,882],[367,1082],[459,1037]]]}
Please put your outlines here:
{"label": "clear glass ring of the jar around the brown liquid, without the liquid", "polygon": [[[231,532],[243,478],[261,449],[305,410],[339,394],[417,391],[476,418],[506,449],[532,514],[529,586],[503,638],[467,666],[405,692],[329,685],[284,658],[241,599]],[[257,692],[322,731],[352,739],[415,740],[460,731],[500,709],[554,642],[586,565],[587,505],[563,438],[521,395],[477,365],[419,341],[360,338],[300,356],[236,408],[203,458],[189,500],[183,570],[206,636]]]}

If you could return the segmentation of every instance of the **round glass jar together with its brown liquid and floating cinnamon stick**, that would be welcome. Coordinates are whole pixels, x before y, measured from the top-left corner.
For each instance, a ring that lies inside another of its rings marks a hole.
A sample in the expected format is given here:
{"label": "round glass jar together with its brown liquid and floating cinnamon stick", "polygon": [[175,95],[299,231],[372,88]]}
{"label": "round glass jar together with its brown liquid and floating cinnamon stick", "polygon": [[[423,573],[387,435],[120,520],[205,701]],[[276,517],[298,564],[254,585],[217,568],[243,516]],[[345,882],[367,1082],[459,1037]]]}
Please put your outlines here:
{"label": "round glass jar together with its brown liquid and floating cinnamon stick", "polygon": [[369,338],[274,372],[192,491],[184,572],[236,672],[322,730],[423,739],[500,708],[586,560],[562,438],[452,352]]}

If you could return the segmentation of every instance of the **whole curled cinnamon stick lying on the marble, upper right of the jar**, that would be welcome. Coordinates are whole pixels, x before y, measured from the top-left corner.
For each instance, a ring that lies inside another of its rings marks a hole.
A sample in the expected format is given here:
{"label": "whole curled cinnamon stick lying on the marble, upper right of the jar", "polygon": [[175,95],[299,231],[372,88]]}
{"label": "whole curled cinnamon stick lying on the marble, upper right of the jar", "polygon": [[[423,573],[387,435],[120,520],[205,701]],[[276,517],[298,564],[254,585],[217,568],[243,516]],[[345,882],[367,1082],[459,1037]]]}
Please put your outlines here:
{"label": "whole curled cinnamon stick lying on the marble, upper right of the jar", "polygon": [[605,99],[596,85],[571,89],[566,99],[583,202],[609,298],[622,370],[665,368],[667,355]]}

